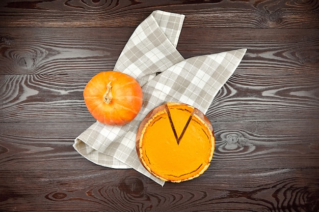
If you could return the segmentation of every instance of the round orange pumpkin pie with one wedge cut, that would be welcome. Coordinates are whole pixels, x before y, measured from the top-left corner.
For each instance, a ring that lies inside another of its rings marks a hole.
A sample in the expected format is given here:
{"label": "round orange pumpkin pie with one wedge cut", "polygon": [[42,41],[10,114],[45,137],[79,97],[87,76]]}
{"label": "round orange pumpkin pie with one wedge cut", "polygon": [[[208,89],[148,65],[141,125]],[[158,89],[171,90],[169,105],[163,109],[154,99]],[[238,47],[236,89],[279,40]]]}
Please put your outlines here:
{"label": "round orange pumpkin pie with one wedge cut", "polygon": [[215,137],[207,117],[193,106],[167,103],[141,122],[136,149],[154,176],[179,183],[201,175],[210,165]]}

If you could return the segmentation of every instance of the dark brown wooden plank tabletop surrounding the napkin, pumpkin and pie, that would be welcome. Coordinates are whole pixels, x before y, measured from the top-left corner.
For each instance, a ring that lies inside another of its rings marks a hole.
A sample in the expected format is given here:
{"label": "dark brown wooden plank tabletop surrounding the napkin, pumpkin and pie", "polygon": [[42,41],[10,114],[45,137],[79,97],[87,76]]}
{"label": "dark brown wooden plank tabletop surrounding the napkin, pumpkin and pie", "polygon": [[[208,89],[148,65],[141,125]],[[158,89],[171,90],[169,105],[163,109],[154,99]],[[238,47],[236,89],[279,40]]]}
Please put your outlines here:
{"label": "dark brown wooden plank tabletop surrounding the napkin, pumpkin and pie", "polygon": [[[248,48],[207,116],[216,152],[162,188],[72,147],[83,89],[152,11],[185,14],[185,57]],[[319,2],[0,1],[0,211],[319,211]]]}

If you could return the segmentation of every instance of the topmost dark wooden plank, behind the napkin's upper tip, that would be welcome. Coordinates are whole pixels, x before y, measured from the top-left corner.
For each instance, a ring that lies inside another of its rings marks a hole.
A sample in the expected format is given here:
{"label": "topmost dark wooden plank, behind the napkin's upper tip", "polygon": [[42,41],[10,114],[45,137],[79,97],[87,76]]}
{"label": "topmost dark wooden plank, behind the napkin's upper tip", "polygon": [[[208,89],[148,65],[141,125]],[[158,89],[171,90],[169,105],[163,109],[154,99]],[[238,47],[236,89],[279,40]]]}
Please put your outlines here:
{"label": "topmost dark wooden plank, behind the napkin's upper tip", "polygon": [[152,11],[164,10],[185,14],[187,27],[318,28],[318,4],[275,0],[4,0],[0,3],[0,26],[137,26]]}

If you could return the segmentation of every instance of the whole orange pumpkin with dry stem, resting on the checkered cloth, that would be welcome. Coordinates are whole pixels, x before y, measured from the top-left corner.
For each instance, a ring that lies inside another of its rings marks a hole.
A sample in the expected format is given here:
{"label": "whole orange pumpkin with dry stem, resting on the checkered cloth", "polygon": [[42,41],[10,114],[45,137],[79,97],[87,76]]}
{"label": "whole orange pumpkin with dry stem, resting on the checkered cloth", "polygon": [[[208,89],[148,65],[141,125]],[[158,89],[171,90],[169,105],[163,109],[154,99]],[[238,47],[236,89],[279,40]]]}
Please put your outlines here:
{"label": "whole orange pumpkin with dry stem, resting on the checkered cloth", "polygon": [[95,75],[85,86],[85,104],[92,116],[106,125],[125,125],[142,107],[142,88],[133,77],[105,71]]}

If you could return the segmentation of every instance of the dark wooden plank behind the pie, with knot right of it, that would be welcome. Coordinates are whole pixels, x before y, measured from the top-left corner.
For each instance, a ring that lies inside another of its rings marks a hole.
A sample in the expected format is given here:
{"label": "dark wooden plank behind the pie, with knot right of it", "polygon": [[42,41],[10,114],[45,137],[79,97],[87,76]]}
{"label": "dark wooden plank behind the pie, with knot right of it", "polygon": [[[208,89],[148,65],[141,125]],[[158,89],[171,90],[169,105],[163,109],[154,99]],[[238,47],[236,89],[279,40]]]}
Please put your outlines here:
{"label": "dark wooden plank behind the pie, with knot right of it", "polygon": [[[72,147],[92,123],[2,123],[3,170],[104,169]],[[319,168],[318,120],[213,123],[216,150],[210,170]]]}

